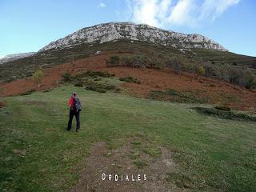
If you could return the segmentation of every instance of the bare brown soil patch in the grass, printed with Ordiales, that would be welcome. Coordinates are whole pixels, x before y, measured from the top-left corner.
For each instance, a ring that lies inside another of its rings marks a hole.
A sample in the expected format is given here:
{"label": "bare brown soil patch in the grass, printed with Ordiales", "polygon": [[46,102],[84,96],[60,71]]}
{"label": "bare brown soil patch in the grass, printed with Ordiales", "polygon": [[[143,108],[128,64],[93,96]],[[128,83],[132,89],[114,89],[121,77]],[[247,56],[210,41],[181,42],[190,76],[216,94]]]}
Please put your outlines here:
{"label": "bare brown soil patch in the grass, printed with Ordiales", "polygon": [[71,191],[186,191],[166,182],[167,173],[178,169],[170,150],[162,147],[161,155],[154,158],[135,151],[133,145],[137,144],[130,140],[118,150],[109,150],[106,142],[95,143],[86,158],[86,168]]}

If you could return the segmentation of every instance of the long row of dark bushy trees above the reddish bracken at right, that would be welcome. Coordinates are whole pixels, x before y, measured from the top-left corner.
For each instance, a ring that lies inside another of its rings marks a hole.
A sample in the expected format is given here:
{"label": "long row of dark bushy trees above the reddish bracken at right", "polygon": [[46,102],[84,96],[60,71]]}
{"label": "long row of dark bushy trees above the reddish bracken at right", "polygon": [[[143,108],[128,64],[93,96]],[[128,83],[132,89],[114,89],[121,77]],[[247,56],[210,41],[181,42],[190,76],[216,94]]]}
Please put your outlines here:
{"label": "long row of dark bushy trees above the reddish bracken at right", "polygon": [[164,67],[174,70],[175,74],[190,72],[198,74],[198,79],[217,78],[233,83],[247,89],[256,88],[256,74],[252,70],[238,65],[218,65],[215,62],[191,61],[186,58],[172,56],[166,58],[155,57],[154,55],[114,55],[107,62],[107,66],[126,66],[132,68],[150,68],[162,70]]}

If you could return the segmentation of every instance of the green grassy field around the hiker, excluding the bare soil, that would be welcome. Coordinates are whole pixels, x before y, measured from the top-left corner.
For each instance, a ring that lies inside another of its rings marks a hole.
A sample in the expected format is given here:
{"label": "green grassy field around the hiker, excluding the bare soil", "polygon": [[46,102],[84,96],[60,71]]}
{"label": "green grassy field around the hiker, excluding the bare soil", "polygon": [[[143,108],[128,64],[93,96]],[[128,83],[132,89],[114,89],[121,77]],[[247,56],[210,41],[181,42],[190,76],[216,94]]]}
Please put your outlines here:
{"label": "green grassy field around the hiker, excluding the bare soil", "polygon": [[[79,133],[66,131],[67,100],[73,90],[83,104]],[[118,148],[135,134],[151,141],[144,150],[148,154],[158,156],[161,146],[173,152],[179,170],[168,174],[166,182],[189,181],[187,190],[192,191],[256,189],[253,122],[204,116],[191,109],[197,104],[100,94],[74,86],[0,102],[6,102],[0,109],[0,191],[70,190],[94,142]]]}

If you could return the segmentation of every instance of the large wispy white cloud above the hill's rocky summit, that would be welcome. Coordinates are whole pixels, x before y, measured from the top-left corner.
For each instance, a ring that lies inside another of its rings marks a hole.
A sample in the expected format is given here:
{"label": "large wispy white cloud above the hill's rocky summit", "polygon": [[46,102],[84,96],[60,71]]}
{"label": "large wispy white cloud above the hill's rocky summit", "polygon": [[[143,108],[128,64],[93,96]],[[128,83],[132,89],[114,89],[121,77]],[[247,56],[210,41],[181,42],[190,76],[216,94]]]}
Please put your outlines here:
{"label": "large wispy white cloud above the hill's rocky summit", "polygon": [[198,26],[214,21],[240,0],[126,0],[130,19],[150,26]]}

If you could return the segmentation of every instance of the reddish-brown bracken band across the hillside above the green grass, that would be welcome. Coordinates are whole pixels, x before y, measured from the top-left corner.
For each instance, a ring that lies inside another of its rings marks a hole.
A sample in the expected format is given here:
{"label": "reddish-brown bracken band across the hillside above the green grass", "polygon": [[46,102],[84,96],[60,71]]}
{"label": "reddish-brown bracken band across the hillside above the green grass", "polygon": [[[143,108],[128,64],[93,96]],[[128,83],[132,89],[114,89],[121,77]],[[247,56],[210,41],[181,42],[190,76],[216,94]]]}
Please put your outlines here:
{"label": "reddish-brown bracken band across the hillside above the green grass", "polygon": [[225,104],[237,110],[256,111],[256,90],[246,90],[212,78],[202,78],[198,81],[195,74],[174,74],[171,70],[132,69],[126,67],[106,67],[109,54],[91,56],[75,61],[75,64],[64,63],[44,69],[45,77],[38,89],[32,79],[18,79],[14,82],[0,84],[0,97],[26,93],[29,90],[47,90],[60,85],[62,74],[76,74],[86,70],[107,70],[117,77],[132,76],[142,83],[124,83],[123,87],[130,94],[146,98],[152,90],[180,90],[196,94],[198,98],[207,98],[211,103]]}

